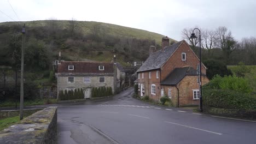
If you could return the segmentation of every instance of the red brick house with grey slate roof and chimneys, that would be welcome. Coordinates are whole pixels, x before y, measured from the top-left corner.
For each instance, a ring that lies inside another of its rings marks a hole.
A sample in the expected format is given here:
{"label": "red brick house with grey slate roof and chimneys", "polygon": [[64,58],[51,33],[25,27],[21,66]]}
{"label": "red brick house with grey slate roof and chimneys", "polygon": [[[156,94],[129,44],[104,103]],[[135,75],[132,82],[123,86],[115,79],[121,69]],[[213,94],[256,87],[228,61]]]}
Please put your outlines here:
{"label": "red brick house with grey slate roof and chimneys", "polygon": [[[149,57],[137,70],[138,95],[148,95],[159,101],[167,95],[176,106],[199,104],[197,65],[199,58],[185,40],[169,46],[169,39],[162,38],[162,50],[155,52],[150,46]],[[202,64],[202,85],[209,80]]]}

